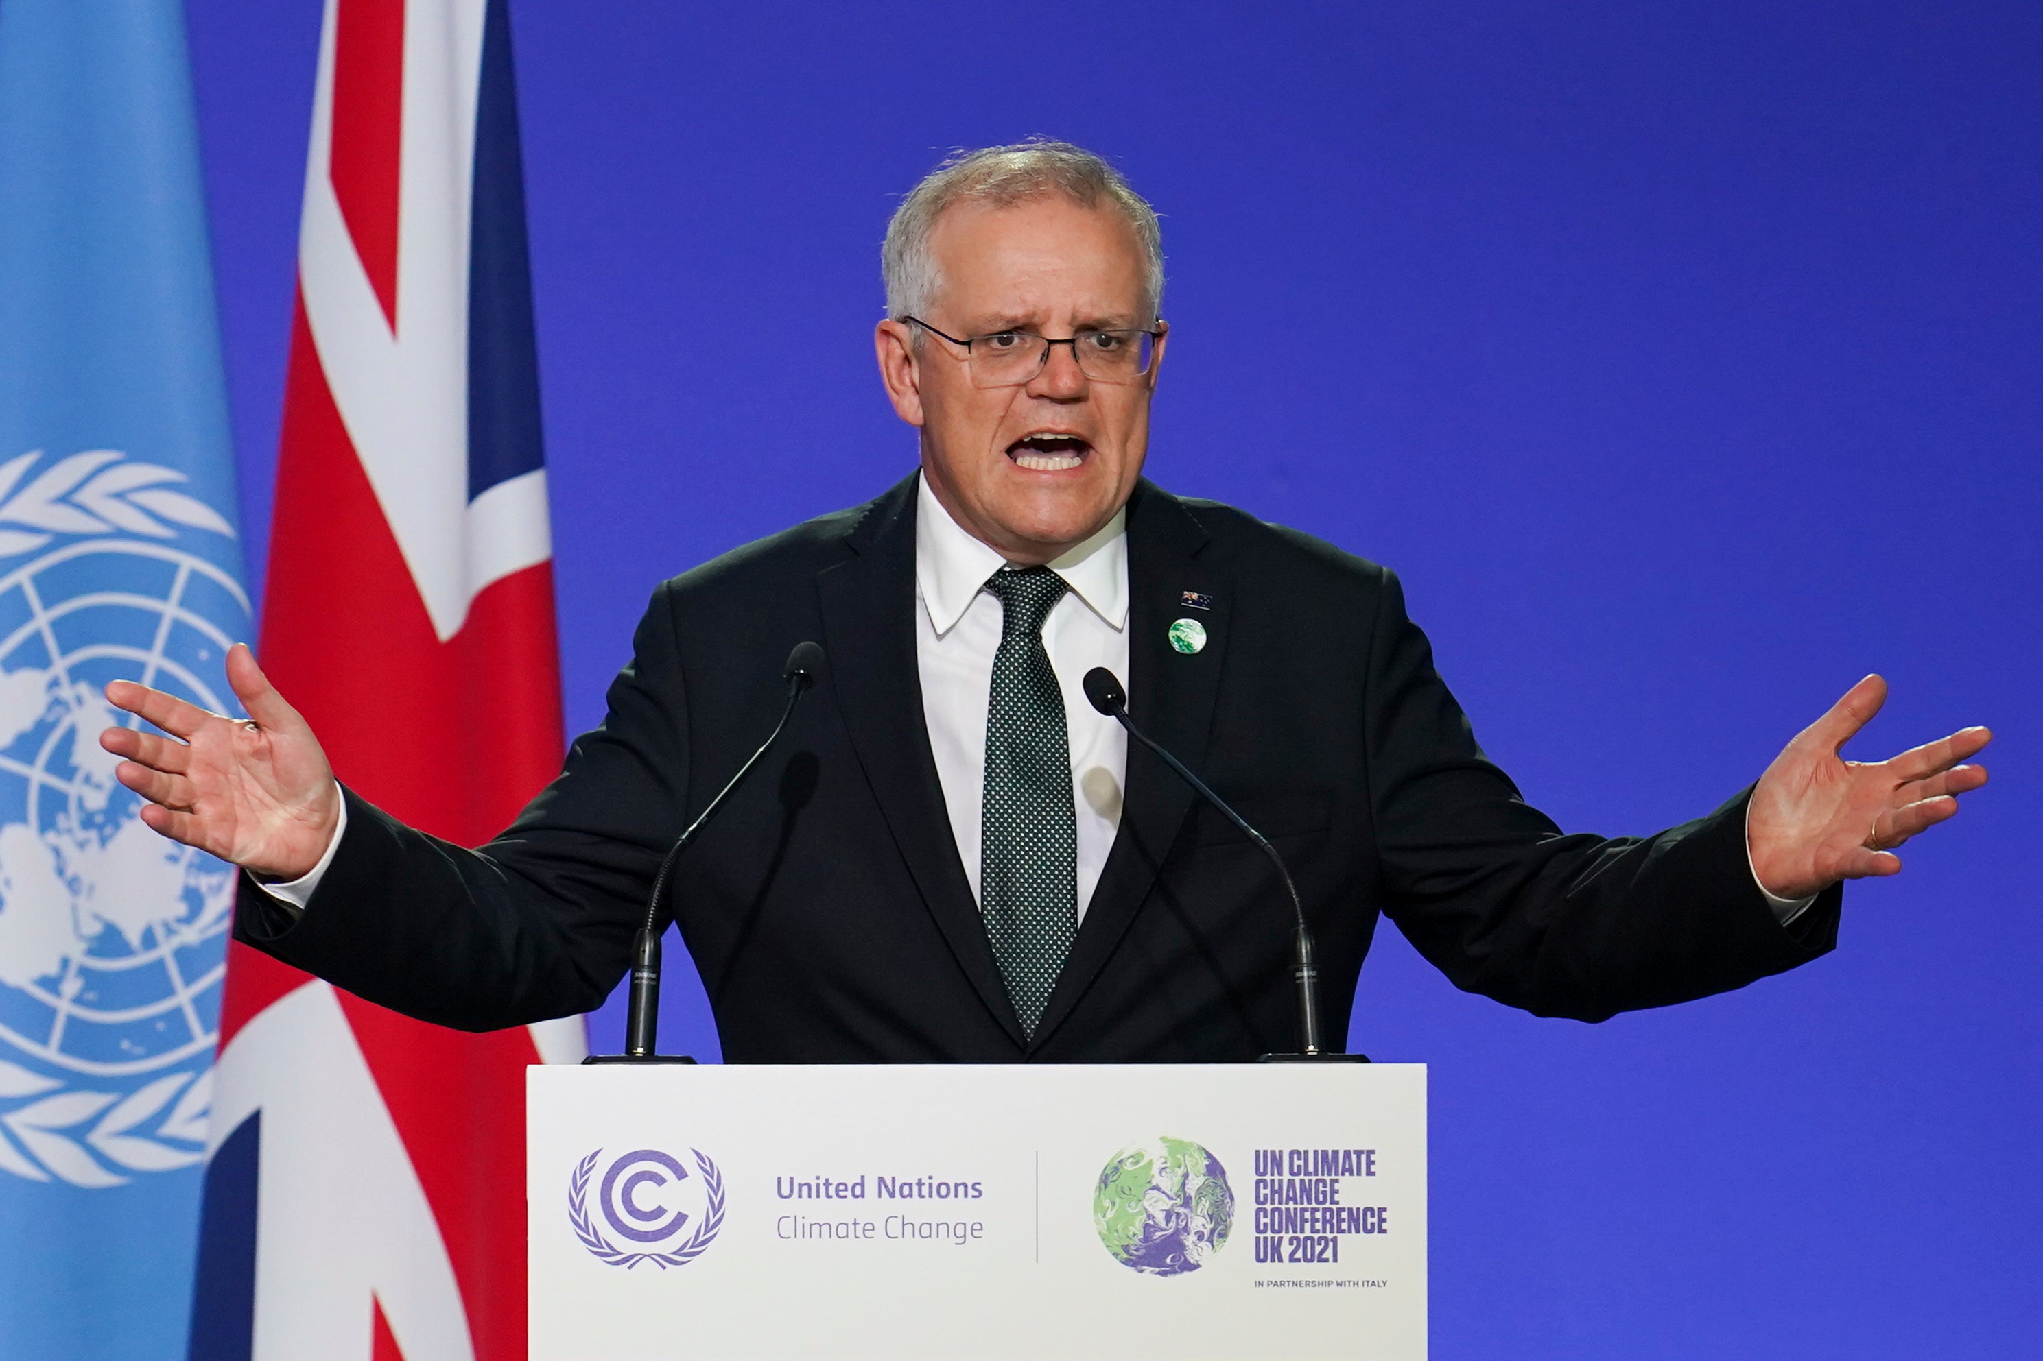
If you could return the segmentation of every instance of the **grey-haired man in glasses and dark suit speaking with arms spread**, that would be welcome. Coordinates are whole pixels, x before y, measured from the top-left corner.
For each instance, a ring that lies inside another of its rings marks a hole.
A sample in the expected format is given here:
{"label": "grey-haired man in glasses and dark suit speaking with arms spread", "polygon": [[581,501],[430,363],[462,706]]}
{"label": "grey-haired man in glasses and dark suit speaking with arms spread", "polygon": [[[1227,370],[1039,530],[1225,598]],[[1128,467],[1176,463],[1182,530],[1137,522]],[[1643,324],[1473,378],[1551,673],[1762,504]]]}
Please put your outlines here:
{"label": "grey-haired man in glasses and dark suit speaking with arms spread", "polygon": [[1965,728],[1837,751],[1867,677],[1722,808],[1567,837],[1475,745],[1395,577],[1142,482],[1167,326],[1156,218],[1056,143],[940,167],[885,247],[889,398],[921,467],[664,584],[609,716],[466,851],[343,792],[247,649],[251,722],[114,684],[153,828],[247,869],[237,935],[464,1028],[597,1006],[652,875],[780,706],[827,675],[680,859],[672,904],[733,1061],[1248,1059],[1293,1041],[1287,904],[1232,826],[1079,684],[1236,800],[1291,865],[1330,1014],[1387,914],[1455,984],[1598,1020],[1790,969],[1841,879],[1984,784]]}

